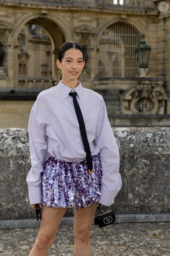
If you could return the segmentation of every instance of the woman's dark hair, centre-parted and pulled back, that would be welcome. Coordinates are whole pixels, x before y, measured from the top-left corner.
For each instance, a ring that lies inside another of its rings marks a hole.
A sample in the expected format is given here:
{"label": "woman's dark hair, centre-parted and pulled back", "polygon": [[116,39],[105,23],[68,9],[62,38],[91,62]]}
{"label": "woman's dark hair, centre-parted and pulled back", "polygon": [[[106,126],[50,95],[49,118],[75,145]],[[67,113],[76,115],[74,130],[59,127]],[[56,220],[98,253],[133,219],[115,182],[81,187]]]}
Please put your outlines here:
{"label": "woman's dark hair, centre-parted and pulled back", "polygon": [[60,49],[58,52],[58,60],[60,61],[60,63],[62,62],[65,52],[72,48],[80,50],[83,54],[83,60],[84,60],[84,51],[83,51],[83,48],[81,47],[81,45],[76,42],[68,41],[60,46]]}

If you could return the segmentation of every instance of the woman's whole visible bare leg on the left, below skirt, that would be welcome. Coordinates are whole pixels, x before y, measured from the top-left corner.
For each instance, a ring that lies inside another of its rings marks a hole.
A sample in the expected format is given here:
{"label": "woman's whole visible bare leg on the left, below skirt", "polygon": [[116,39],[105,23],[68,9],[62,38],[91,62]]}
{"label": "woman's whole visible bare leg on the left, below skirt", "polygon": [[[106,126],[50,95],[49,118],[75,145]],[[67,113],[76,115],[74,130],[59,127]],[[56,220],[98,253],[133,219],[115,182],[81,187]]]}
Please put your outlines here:
{"label": "woman's whole visible bare leg on the left, below skirt", "polygon": [[43,206],[42,220],[37,239],[29,256],[46,256],[54,241],[56,232],[66,212],[66,208],[52,208]]}

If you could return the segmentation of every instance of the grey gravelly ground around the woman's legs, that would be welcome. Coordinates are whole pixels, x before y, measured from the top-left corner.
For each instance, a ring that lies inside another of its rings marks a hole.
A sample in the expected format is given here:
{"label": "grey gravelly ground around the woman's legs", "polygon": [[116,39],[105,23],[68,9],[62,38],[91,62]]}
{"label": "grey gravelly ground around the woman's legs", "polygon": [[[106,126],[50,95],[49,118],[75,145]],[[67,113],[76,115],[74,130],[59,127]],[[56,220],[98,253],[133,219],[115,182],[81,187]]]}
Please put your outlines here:
{"label": "grey gravelly ground around the woman's legs", "polygon": [[[39,228],[0,230],[0,255],[29,254]],[[170,222],[119,223],[91,228],[93,256],[170,256]],[[60,226],[47,255],[72,256],[73,226]],[[81,255],[80,255],[81,256]]]}

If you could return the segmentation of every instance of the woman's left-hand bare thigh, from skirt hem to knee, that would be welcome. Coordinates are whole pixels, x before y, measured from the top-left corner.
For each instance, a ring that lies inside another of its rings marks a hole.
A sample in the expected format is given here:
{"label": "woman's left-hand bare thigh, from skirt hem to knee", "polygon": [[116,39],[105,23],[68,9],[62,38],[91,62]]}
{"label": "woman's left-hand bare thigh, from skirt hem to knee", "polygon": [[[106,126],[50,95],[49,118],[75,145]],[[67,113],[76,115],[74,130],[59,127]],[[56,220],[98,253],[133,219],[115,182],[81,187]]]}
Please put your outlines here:
{"label": "woman's left-hand bare thigh, from skirt hem to knee", "polygon": [[37,239],[39,237],[45,237],[48,240],[54,240],[54,237],[66,210],[67,208],[59,209],[43,206],[42,220]]}

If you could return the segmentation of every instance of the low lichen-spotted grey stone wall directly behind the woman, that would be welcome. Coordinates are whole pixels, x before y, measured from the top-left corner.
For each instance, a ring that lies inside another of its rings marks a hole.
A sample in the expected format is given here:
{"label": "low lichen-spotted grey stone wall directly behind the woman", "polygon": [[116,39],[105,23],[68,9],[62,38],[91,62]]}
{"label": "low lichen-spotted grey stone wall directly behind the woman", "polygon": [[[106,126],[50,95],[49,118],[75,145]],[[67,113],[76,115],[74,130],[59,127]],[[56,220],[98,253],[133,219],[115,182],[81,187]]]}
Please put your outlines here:
{"label": "low lichen-spotted grey stone wall directly behind the woman", "polygon": [[[123,181],[115,199],[116,214],[169,213],[170,128],[113,128],[113,132]],[[26,183],[29,169],[27,129],[0,129],[0,220],[34,218]],[[65,216],[73,216],[73,210]]]}

